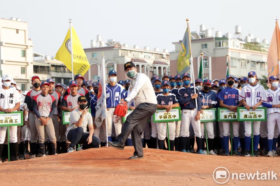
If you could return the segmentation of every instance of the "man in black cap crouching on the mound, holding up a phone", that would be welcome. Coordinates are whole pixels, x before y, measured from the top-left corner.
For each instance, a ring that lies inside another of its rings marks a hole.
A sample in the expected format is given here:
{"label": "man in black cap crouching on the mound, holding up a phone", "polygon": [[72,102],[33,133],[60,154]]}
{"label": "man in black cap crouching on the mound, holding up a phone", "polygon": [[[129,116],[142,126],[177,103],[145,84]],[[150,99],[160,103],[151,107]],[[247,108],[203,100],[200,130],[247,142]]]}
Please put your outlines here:
{"label": "man in black cap crouching on the mound, holding up a phone", "polygon": [[[88,101],[85,96],[79,96],[79,106],[70,114],[69,127],[66,131],[67,140],[71,142],[68,153],[74,152],[76,144],[83,144],[78,150],[96,148],[100,145],[98,137],[93,135],[93,121],[88,112]],[[89,132],[87,132],[87,127]]]}

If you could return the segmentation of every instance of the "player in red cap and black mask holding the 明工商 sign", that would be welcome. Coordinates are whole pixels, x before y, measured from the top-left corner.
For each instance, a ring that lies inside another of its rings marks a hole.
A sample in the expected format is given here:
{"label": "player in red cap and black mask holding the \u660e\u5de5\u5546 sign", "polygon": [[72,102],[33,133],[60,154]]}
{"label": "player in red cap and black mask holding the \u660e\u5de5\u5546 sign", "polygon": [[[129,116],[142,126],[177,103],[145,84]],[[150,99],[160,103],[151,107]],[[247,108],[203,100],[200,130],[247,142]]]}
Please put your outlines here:
{"label": "player in red cap and black mask holding the \u660e\u5de5\u5546 sign", "polygon": [[[215,92],[210,91],[211,89],[211,80],[205,79],[203,81],[203,89],[200,91],[201,96],[201,108],[209,109],[214,108],[214,105],[217,104],[217,98]],[[214,124],[213,122],[206,122],[206,130],[207,130],[207,137],[208,137],[208,147],[209,147],[209,154],[210,155],[217,155],[213,150],[214,146]],[[204,130],[202,129],[203,134]],[[206,137],[206,136],[205,136]],[[204,146],[204,139],[202,139],[202,146]]]}

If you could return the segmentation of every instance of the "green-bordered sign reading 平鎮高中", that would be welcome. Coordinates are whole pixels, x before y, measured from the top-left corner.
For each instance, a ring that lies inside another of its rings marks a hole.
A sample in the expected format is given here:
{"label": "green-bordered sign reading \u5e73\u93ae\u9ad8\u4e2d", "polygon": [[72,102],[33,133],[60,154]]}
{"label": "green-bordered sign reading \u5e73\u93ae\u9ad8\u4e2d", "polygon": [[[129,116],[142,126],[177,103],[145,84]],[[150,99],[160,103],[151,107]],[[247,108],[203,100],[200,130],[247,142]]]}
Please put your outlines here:
{"label": "green-bordered sign reading \u5e73\u93ae\u9ad8\u4e2d", "polygon": [[181,108],[175,107],[166,112],[166,109],[157,109],[153,114],[153,122],[169,122],[169,121],[181,121]]}

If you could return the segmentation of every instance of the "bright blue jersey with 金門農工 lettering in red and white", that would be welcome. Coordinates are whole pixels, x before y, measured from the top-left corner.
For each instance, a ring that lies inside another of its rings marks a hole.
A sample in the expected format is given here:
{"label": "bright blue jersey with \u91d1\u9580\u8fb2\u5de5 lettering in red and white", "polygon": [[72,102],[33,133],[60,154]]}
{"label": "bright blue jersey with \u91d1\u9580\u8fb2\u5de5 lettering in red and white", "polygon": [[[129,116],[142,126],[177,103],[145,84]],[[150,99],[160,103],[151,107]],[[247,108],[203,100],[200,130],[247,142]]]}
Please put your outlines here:
{"label": "bright blue jersey with \u91d1\u9580\u8fb2\u5de5 lettering in red and white", "polygon": [[239,104],[239,91],[233,87],[227,87],[221,91],[219,99],[225,105],[237,106]]}

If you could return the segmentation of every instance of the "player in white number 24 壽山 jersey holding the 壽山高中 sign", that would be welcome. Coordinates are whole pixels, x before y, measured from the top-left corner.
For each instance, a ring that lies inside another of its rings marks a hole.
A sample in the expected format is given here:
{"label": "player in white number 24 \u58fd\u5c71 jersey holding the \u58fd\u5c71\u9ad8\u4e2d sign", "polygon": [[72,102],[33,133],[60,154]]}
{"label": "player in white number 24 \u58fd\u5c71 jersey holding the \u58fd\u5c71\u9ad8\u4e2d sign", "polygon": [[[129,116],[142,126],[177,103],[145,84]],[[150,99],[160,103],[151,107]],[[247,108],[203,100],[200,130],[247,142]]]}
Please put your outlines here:
{"label": "player in white number 24 \u58fd\u5c71 jersey holding the \u58fd\u5c71\u9ad8\u4e2d sign", "polygon": [[[258,84],[256,82],[257,74],[255,71],[250,71],[248,73],[248,80],[249,84],[244,86],[239,94],[239,96],[242,98],[242,104],[246,109],[252,108],[255,110],[256,108],[262,106],[262,95],[265,92],[265,89],[262,85]],[[245,121],[245,153],[244,156],[250,156],[250,143],[251,143],[251,133],[254,134],[254,156],[259,156],[257,149],[258,144],[260,140],[260,121],[254,121],[253,122],[253,130],[251,131],[251,121]]]}

